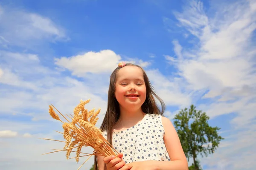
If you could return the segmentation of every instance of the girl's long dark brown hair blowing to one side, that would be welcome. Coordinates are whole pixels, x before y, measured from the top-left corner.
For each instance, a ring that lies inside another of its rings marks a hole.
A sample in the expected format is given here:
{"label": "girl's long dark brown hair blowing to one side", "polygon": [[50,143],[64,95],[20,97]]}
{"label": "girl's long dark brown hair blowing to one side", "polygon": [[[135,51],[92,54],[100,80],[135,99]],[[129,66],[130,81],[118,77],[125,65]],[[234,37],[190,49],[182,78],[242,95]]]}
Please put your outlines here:
{"label": "girl's long dark brown hair blowing to one side", "polygon": [[[165,104],[163,100],[160,99],[160,97],[157,96],[157,94],[154,92],[154,88],[152,87],[144,69],[141,68],[139,65],[134,65],[131,63],[127,63],[125,67],[127,66],[135,66],[143,71],[143,78],[146,86],[146,99],[143,105],[141,106],[142,111],[146,114],[154,113],[163,115],[165,111]],[[115,98],[116,78],[119,69],[120,68],[116,68],[110,76],[110,84],[108,89],[108,108],[103,119],[102,125],[100,127],[102,132],[107,131],[107,140],[110,144],[112,144],[113,127],[120,116],[119,103]],[[157,102],[155,101],[154,97],[160,102],[161,109],[157,106]],[[98,170],[97,156],[94,156],[94,170]],[[106,170],[106,166],[104,166],[104,170]]]}

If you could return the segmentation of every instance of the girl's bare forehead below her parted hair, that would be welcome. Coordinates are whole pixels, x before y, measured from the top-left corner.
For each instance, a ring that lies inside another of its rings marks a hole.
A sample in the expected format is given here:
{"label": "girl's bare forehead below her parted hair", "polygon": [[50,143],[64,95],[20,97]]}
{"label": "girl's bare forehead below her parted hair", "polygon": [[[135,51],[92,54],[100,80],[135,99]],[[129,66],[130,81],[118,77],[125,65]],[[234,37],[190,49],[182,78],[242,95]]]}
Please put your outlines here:
{"label": "girl's bare forehead below her parted hair", "polygon": [[117,79],[143,79],[143,71],[136,66],[125,66],[117,72]]}

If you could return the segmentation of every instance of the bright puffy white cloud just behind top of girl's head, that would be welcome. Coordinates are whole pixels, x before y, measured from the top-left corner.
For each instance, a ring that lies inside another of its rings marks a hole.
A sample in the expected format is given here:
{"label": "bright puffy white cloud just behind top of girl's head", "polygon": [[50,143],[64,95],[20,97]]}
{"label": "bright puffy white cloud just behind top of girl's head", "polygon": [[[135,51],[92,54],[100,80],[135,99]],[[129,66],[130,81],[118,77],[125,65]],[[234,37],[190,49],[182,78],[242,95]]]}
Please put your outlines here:
{"label": "bright puffy white cloud just behind top of girl's head", "polygon": [[76,56],[55,58],[56,65],[66,68],[78,77],[86,77],[87,74],[109,74],[121,61],[139,64],[141,67],[150,65],[150,62],[145,62],[142,59],[128,58],[125,61],[120,55],[111,50],[89,51]]}

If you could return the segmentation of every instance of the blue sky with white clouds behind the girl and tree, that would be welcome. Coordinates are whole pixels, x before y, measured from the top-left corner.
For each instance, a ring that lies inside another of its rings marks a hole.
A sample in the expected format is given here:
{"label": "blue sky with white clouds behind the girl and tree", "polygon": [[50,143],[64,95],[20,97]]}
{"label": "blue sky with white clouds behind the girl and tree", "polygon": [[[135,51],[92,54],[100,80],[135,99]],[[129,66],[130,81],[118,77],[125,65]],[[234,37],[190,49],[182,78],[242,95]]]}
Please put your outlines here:
{"label": "blue sky with white clouds behind the girl and tree", "polygon": [[99,126],[120,61],[145,68],[169,119],[194,104],[221,127],[205,170],[253,169],[255,29],[256,0],[2,0],[0,169],[78,168],[65,153],[41,155],[62,147],[38,139],[62,138],[48,105],[72,113],[90,98]]}

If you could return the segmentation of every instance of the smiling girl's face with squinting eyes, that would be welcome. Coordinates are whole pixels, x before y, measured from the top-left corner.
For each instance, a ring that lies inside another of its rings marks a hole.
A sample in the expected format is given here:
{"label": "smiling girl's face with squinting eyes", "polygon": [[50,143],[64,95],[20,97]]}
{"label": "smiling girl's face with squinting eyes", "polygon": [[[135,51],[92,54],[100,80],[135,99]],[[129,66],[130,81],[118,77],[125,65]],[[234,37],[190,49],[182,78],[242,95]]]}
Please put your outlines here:
{"label": "smiling girl's face with squinting eyes", "polygon": [[126,110],[140,109],[146,99],[143,71],[135,66],[125,66],[117,73],[116,100]]}

